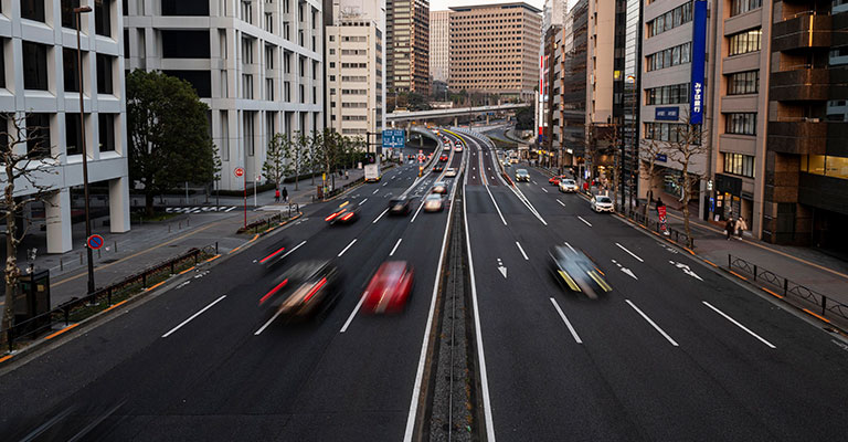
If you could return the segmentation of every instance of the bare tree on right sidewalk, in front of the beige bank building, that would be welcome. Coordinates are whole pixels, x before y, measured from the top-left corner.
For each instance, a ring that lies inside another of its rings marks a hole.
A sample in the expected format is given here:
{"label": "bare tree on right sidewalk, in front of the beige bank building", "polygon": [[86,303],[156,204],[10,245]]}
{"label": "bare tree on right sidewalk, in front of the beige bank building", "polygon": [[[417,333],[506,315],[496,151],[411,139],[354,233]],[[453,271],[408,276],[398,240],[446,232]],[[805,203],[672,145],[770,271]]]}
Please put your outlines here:
{"label": "bare tree on right sidewalk, in front of the beige bank building", "polygon": [[672,161],[680,165],[681,177],[679,179],[680,186],[680,202],[683,204],[683,230],[688,238],[692,238],[692,231],[689,225],[689,201],[692,199],[692,186],[700,182],[703,177],[690,172],[692,161],[706,155],[709,151],[709,146],[704,145],[704,133],[700,124],[691,124],[691,116],[687,112],[683,116],[683,124],[675,126],[674,130],[669,133],[676,134],[677,139],[672,139],[668,143],[669,157]]}

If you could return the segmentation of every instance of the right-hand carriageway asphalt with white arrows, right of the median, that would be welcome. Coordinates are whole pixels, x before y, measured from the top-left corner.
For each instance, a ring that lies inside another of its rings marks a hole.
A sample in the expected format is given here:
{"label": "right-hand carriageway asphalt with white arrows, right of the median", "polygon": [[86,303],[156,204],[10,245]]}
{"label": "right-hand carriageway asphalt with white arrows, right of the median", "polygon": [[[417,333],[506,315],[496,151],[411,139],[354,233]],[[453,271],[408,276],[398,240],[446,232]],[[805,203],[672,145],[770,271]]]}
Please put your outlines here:
{"label": "right-hand carriageway asphalt with white arrows, right of the median", "polygon": [[[469,149],[495,168],[484,143]],[[833,335],[528,169],[517,192],[474,173],[465,188],[489,436],[845,439],[848,351]],[[548,251],[565,243],[611,293],[560,287]]]}

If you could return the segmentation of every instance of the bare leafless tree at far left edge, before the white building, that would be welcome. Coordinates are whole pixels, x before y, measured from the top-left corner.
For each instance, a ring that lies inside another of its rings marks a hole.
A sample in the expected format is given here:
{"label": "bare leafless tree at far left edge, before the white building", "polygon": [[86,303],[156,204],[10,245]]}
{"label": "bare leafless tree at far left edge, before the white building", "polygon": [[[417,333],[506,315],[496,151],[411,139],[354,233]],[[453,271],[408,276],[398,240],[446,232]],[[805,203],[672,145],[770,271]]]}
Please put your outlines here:
{"label": "bare leafless tree at far left edge, before the white building", "polygon": [[47,199],[56,189],[43,182],[47,181],[44,180],[45,177],[59,173],[57,157],[51,152],[51,146],[45,143],[49,140],[45,134],[50,128],[28,125],[29,117],[29,115],[11,114],[0,116],[0,124],[3,124],[6,129],[0,130],[0,139],[6,141],[0,143],[0,164],[3,171],[0,176],[0,183],[3,186],[0,213],[6,220],[3,329],[9,329],[14,318],[14,295],[21,278],[21,270],[18,267],[18,246],[28,230],[28,227],[24,227],[22,232],[18,232],[17,218],[21,217],[23,209],[30,203],[43,201],[45,204],[51,204]]}

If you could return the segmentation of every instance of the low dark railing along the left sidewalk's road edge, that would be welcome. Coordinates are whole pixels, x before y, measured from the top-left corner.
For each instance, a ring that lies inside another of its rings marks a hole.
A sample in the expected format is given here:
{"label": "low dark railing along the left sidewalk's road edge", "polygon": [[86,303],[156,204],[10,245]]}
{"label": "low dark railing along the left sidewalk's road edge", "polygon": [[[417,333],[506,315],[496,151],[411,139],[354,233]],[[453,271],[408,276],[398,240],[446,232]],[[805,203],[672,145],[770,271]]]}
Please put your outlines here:
{"label": "low dark railing along the left sidewalk's road edge", "polygon": [[[106,287],[98,288],[94,293],[82,297],[74,297],[46,313],[14,323],[10,328],[0,333],[6,335],[9,352],[12,352],[15,343],[33,340],[41,335],[53,332],[53,326],[56,324],[64,323],[63,329],[75,327],[76,325],[71,323],[78,324],[81,320],[97,313],[110,311],[129,301],[132,295],[151,291],[165,284],[172,275],[186,273],[194,269],[199,263],[214,256],[218,256],[218,242],[200,249],[192,248],[177,257],[148,267]],[[45,339],[50,339],[60,333],[62,330],[51,334]]]}

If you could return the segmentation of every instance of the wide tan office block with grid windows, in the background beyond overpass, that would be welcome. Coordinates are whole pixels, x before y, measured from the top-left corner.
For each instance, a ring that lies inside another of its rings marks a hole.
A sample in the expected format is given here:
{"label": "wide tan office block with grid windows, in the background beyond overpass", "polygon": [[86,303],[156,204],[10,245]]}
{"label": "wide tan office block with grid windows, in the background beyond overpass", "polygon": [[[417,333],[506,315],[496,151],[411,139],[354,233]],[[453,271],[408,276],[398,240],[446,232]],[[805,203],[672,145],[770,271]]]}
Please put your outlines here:
{"label": "wide tan office block with grid windows, in the background beyond overpass", "polygon": [[541,11],[523,2],[451,10],[451,88],[532,99]]}

